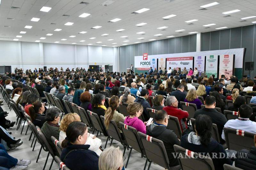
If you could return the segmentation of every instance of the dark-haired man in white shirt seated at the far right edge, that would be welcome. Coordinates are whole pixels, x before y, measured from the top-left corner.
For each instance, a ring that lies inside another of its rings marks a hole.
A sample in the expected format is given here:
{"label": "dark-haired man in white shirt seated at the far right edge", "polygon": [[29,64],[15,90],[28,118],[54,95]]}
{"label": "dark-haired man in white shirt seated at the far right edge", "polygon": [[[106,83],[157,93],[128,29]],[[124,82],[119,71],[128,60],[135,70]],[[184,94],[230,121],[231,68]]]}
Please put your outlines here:
{"label": "dark-haired man in white shirt seated at the far right edge", "polygon": [[[224,128],[239,129],[256,134],[256,122],[249,120],[251,115],[252,107],[249,105],[242,105],[239,108],[238,119],[228,120],[224,125]],[[224,130],[222,131],[221,137],[225,140]]]}

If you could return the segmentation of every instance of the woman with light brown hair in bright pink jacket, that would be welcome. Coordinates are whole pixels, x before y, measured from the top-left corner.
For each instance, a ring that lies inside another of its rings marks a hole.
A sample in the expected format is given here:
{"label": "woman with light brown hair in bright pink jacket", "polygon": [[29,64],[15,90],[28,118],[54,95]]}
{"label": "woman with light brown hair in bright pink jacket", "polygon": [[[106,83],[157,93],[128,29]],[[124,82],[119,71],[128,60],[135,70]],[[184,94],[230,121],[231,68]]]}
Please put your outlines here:
{"label": "woman with light brown hair in bright pink jacket", "polygon": [[128,126],[132,126],[137,131],[146,134],[147,122],[142,122],[138,118],[138,117],[140,117],[140,115],[143,112],[143,107],[139,103],[133,102],[127,106],[127,111],[129,112],[130,116],[127,116],[125,118],[124,124],[126,124]]}

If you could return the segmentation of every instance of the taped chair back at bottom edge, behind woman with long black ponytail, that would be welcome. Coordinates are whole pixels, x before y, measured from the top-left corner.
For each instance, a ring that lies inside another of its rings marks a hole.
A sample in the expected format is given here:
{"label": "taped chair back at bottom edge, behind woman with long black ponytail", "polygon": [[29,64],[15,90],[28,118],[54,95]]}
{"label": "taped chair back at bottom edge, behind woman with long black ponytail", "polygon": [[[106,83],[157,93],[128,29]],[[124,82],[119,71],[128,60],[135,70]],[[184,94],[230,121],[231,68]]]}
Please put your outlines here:
{"label": "taped chair back at bottom edge, behind woman with long black ponytail", "polygon": [[179,145],[173,145],[174,151],[178,153],[180,166],[184,170],[214,170],[214,165],[210,157],[201,155],[200,153],[192,152]]}

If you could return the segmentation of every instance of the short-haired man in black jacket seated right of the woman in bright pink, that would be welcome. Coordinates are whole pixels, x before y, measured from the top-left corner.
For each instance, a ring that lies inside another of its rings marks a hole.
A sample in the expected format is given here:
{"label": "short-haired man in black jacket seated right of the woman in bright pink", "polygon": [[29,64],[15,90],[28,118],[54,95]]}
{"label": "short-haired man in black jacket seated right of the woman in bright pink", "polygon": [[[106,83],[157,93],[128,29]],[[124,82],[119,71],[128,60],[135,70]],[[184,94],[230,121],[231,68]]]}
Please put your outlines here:
{"label": "short-haired man in black jacket seated right of the woman in bright pink", "polygon": [[180,140],[172,130],[167,129],[168,115],[166,111],[158,110],[154,117],[156,122],[148,126],[146,134],[163,141],[170,167],[179,165],[178,159],[173,157],[175,154],[173,145],[180,145]]}

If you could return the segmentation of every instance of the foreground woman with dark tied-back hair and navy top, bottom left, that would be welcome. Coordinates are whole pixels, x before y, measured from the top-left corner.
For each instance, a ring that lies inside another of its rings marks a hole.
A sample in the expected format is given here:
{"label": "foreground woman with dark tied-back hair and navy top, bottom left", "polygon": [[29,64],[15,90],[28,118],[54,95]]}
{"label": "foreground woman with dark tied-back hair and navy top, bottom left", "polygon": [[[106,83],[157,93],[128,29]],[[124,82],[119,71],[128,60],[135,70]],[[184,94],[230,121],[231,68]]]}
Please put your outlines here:
{"label": "foreground woman with dark tied-back hair and navy top, bottom left", "polygon": [[89,150],[85,144],[88,138],[88,129],[83,122],[71,122],[66,130],[67,137],[61,143],[64,148],[60,159],[71,170],[99,169],[99,156]]}

